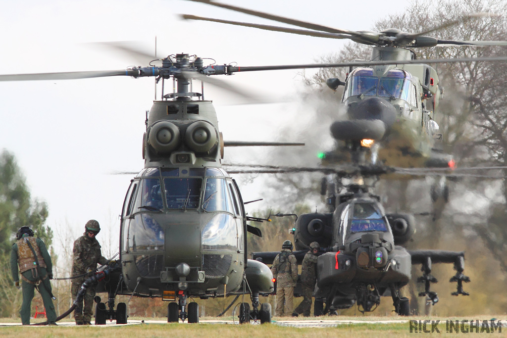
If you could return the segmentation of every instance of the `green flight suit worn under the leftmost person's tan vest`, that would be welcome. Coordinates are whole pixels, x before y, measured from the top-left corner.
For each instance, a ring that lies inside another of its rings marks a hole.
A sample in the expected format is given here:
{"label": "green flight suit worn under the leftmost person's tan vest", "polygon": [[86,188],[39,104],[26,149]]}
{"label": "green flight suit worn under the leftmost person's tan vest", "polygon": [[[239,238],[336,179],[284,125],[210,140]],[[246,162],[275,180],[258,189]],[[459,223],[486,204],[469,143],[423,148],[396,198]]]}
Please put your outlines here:
{"label": "green flight suit worn under the leftmost person's tan vest", "polygon": [[[18,243],[19,245],[22,245],[20,241],[24,241],[25,238],[29,238],[28,235],[23,235],[23,237],[13,244],[12,251],[11,251],[11,275],[14,282],[19,282],[19,275],[18,275]],[[33,299],[34,295],[34,289],[35,289],[35,283],[38,283],[40,281],[39,286],[37,287],[39,290],[39,293],[41,293],[42,300],[44,302],[44,308],[46,309],[46,317],[48,319],[48,322],[55,322],[56,321],[56,311],[55,307],[53,305],[53,299],[51,299],[51,283],[49,281],[50,278],[53,278],[53,264],[51,262],[51,256],[48,253],[48,249],[46,248],[46,245],[44,242],[37,238],[35,241],[31,241],[33,243],[36,243],[38,246],[38,250],[36,248],[33,248],[36,253],[39,251],[42,255],[42,260],[44,260],[44,263],[46,267],[40,267],[37,269],[37,266],[34,266],[34,268],[26,270],[24,272],[21,272],[21,287],[23,288],[23,304],[21,305],[21,311],[19,311],[19,314],[21,315],[21,322],[23,325],[29,325],[30,324],[30,307],[31,307],[31,301]],[[39,261],[41,261],[41,257],[39,257]],[[40,264],[41,265],[41,264]],[[44,265],[44,264],[43,264]],[[23,269],[20,269],[23,270]],[[39,271],[37,271],[39,270]],[[42,280],[41,280],[42,279]],[[29,282],[27,282],[28,280]],[[33,282],[34,284],[31,284],[30,282]]]}

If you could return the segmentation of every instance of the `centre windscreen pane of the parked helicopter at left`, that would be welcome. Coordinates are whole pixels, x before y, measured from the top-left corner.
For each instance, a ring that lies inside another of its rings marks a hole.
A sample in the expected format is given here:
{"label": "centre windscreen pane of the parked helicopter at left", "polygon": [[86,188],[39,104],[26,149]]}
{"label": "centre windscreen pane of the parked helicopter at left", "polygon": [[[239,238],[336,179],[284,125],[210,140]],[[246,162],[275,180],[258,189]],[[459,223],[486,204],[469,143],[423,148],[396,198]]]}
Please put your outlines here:
{"label": "centre windscreen pane of the parked helicopter at left", "polygon": [[201,186],[201,178],[164,178],[167,208],[197,209]]}

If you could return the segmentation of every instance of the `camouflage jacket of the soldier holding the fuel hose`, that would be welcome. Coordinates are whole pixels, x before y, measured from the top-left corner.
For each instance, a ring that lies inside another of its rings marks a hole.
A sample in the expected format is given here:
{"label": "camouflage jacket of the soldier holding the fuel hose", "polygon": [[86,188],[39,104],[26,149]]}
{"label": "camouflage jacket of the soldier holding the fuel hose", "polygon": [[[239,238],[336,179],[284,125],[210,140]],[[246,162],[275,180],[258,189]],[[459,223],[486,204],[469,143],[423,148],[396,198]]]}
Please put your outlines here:
{"label": "camouflage jacket of the soldier holding the fuel hose", "polygon": [[95,238],[89,238],[86,233],[74,242],[73,254],[73,276],[95,270],[97,263],[104,265],[108,262],[108,259],[102,256],[98,241]]}

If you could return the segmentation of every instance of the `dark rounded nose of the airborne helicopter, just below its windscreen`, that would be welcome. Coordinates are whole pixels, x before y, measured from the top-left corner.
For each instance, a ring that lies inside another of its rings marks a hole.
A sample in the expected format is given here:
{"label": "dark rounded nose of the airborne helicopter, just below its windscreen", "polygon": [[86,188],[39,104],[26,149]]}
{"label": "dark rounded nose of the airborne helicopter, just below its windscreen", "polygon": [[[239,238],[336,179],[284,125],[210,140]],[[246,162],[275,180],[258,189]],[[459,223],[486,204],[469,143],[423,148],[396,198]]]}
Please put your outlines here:
{"label": "dark rounded nose of the airborne helicopter, just below its windscreen", "polygon": [[396,108],[377,96],[350,104],[347,113],[351,120],[380,120],[387,127],[392,126],[396,119]]}

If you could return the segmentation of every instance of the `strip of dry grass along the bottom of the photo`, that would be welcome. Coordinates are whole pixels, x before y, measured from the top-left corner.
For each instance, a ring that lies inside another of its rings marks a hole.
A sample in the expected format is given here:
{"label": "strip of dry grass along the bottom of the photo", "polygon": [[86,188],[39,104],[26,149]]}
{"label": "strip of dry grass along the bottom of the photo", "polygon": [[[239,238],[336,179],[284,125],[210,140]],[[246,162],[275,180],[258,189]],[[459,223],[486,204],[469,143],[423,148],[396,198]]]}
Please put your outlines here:
{"label": "strip of dry grass along the bottom of the photo", "polygon": [[[132,318],[134,320],[141,320],[142,318]],[[166,320],[165,318],[146,318],[147,320]],[[201,320],[229,320],[232,321],[232,317],[228,318],[201,318]],[[294,320],[295,318],[274,318],[275,321]],[[299,319],[299,318],[298,318]],[[388,320],[400,320],[400,317],[348,317],[348,316],[337,316],[337,317],[319,317],[319,318],[307,318],[312,320],[369,320],[369,321],[388,321]],[[460,333],[446,333],[445,322],[447,319],[450,320],[461,320],[464,318],[406,318],[409,319],[421,319],[421,320],[440,320],[439,324],[440,334],[433,332],[430,334],[439,334],[439,336],[456,336]],[[474,320],[490,320],[491,316],[476,316],[474,318],[468,318]],[[500,318],[502,319],[502,318]],[[13,319],[4,318],[1,322],[13,322]],[[39,320],[32,320],[38,322]],[[428,330],[430,325],[428,325]],[[501,330],[501,329],[500,329]],[[414,332],[415,333],[415,332]],[[53,338],[53,337],[77,337],[77,338],[103,338],[103,337],[116,337],[116,338],[162,338],[169,336],[182,336],[188,338],[214,338],[214,337],[266,337],[266,338],[280,338],[280,337],[408,337],[413,336],[414,333],[410,333],[409,323],[387,323],[387,324],[339,324],[336,327],[318,327],[318,328],[298,328],[298,327],[287,327],[276,324],[271,325],[231,325],[231,324],[139,324],[129,326],[60,326],[60,327],[48,327],[48,326],[14,326],[14,327],[0,327],[0,337],[2,338],[19,338],[19,337],[30,337],[30,338]],[[485,333],[485,332],[483,332]],[[495,336],[507,335],[507,328],[504,328],[503,332],[498,332],[498,329],[494,332]],[[473,333],[481,334],[481,333]],[[466,336],[470,335],[468,333]]]}

